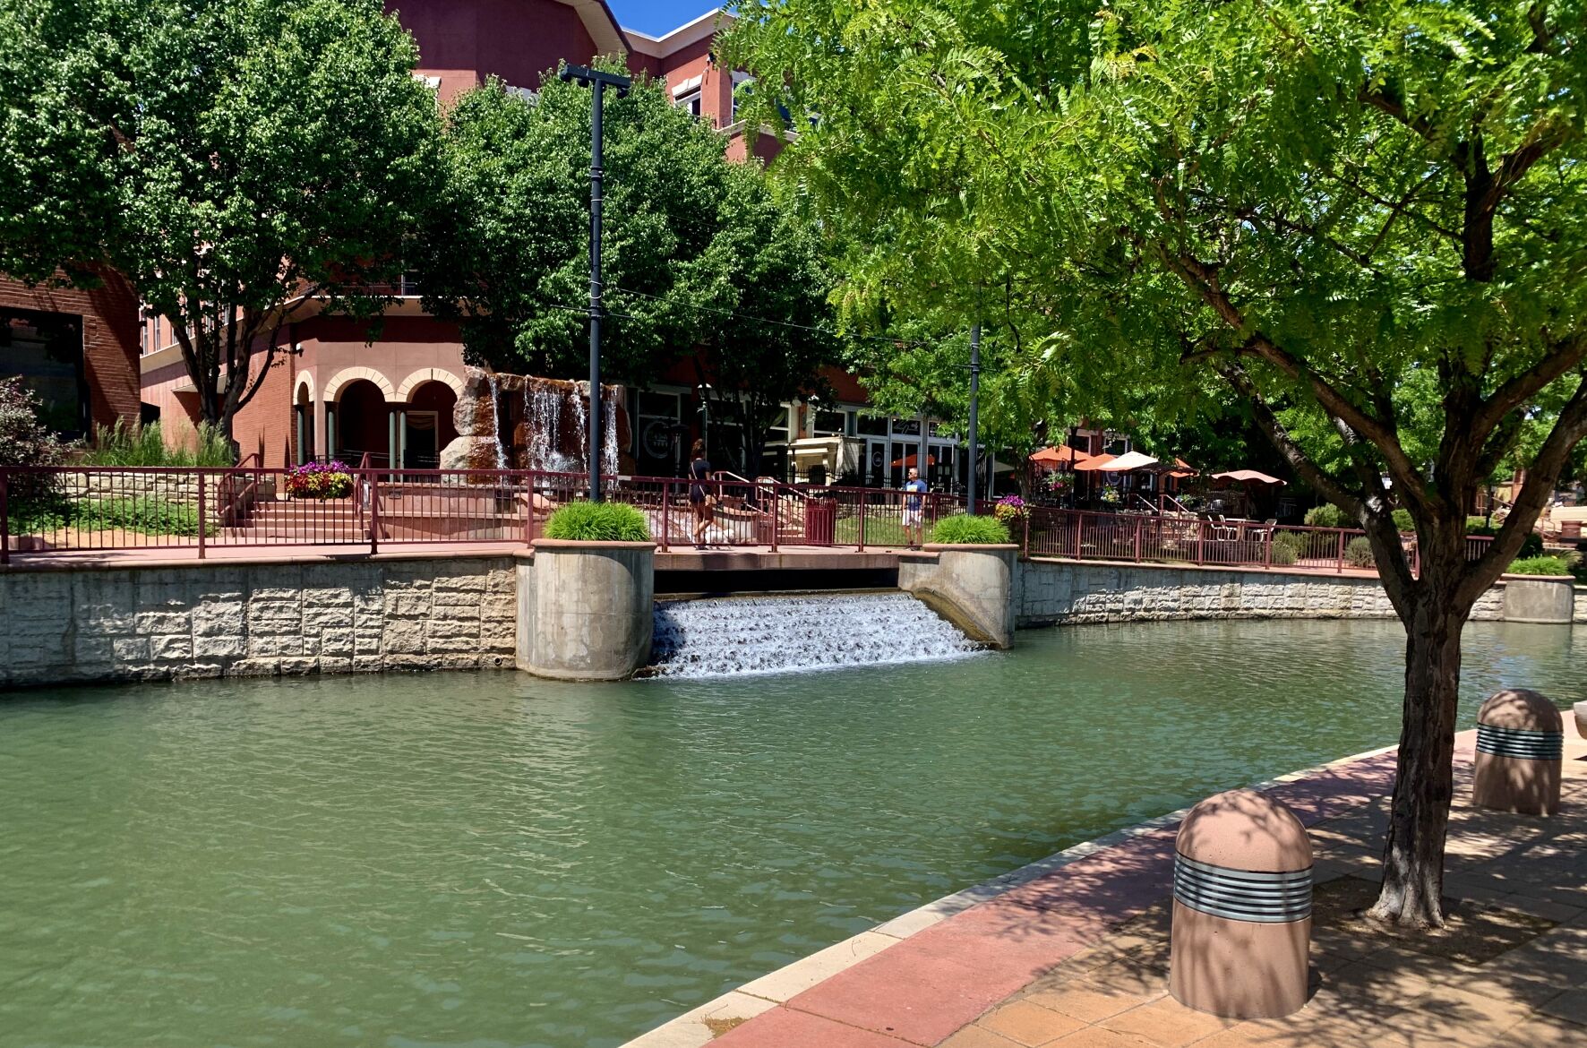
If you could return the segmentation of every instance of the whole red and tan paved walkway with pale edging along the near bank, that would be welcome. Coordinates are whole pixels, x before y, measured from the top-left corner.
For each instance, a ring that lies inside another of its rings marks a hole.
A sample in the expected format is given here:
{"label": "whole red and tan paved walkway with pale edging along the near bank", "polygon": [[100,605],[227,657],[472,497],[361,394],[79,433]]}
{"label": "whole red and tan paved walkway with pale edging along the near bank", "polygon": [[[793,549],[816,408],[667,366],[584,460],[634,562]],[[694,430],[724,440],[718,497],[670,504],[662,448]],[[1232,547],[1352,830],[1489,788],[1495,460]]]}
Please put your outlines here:
{"label": "whole red and tan paved walkway with pale edging along the near bank", "polygon": [[833,946],[847,956],[825,972],[816,954],[636,1045],[1587,1046],[1587,742],[1570,715],[1566,726],[1565,811],[1552,819],[1471,808],[1474,732],[1460,737],[1451,924],[1435,935],[1357,916],[1376,897],[1392,753],[1271,786],[1317,854],[1312,997],[1285,1019],[1232,1023],[1166,996],[1174,823],[947,907],[957,913],[906,915],[930,926],[884,924]]}

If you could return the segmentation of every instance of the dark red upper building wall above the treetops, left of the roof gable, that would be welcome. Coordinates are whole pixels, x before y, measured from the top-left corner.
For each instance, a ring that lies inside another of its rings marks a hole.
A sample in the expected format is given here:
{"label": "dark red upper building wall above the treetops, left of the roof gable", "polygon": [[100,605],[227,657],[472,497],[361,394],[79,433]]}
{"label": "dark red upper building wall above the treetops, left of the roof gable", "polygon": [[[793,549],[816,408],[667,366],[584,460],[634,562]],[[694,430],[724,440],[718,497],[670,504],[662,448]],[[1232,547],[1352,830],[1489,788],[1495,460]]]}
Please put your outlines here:
{"label": "dark red upper building wall above the treetops, left of the roof gable", "polygon": [[514,87],[540,87],[540,75],[559,60],[595,57],[578,11],[552,0],[389,0],[419,41],[419,73],[440,76],[440,94],[500,76]]}

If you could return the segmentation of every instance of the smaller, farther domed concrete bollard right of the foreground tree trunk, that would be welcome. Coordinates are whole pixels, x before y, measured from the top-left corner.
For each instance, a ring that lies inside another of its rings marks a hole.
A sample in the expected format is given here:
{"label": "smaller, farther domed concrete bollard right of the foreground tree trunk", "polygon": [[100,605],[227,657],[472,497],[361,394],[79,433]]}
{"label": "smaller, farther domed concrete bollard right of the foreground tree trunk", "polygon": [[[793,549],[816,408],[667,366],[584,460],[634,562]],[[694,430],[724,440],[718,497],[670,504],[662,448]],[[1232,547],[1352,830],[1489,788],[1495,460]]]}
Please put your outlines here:
{"label": "smaller, farther domed concrete bollard right of the foreground tree trunk", "polygon": [[1522,688],[1489,695],[1477,710],[1471,803],[1516,815],[1560,810],[1565,718],[1547,697]]}

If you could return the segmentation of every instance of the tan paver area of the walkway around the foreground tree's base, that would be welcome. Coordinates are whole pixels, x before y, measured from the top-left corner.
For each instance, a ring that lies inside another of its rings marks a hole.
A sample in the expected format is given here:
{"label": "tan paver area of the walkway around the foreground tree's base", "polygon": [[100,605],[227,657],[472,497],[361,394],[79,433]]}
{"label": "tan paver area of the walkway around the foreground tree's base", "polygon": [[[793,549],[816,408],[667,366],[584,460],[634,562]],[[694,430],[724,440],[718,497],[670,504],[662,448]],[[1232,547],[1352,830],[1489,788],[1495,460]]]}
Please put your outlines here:
{"label": "tan paver area of the walkway around the foreground tree's base", "polygon": [[1233,1023],[1170,997],[1160,902],[941,1045],[1587,1046],[1587,745],[1571,737],[1563,813],[1552,819],[1473,808],[1462,762],[1444,932],[1392,934],[1355,916],[1376,897],[1387,800],[1311,827],[1312,997],[1292,1016]]}

